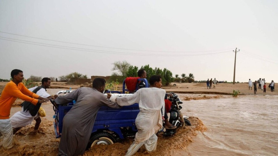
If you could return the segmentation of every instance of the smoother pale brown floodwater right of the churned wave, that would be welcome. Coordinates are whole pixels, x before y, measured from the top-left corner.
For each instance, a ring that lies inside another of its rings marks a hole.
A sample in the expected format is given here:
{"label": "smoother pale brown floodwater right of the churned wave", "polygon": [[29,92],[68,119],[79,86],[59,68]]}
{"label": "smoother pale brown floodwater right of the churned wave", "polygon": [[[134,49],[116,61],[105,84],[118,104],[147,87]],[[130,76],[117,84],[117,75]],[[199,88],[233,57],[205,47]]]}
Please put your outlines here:
{"label": "smoother pale brown floodwater right of the churned wave", "polygon": [[184,155],[278,154],[278,96],[227,96],[182,105],[184,115],[198,117],[207,127]]}

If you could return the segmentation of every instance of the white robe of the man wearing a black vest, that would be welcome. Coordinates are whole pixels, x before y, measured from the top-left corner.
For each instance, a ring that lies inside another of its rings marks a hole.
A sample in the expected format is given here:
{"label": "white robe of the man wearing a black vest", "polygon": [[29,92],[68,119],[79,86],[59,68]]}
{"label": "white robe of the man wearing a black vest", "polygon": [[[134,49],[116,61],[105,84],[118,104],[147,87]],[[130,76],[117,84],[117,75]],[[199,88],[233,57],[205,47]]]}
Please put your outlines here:
{"label": "white robe of the man wearing a black vest", "polygon": [[[29,90],[32,92],[35,88],[37,88],[37,87],[29,88]],[[48,94],[45,91],[44,88],[41,88],[40,90],[38,90],[38,92],[36,94],[43,98],[47,98],[47,97],[51,96],[50,94]],[[12,128],[27,126],[27,125],[31,124],[31,122],[33,120],[36,120],[38,117],[39,117],[38,113],[36,114],[36,116],[32,116],[28,110],[25,110],[25,112],[24,112],[23,108],[22,108],[21,111],[16,112],[11,117]]]}

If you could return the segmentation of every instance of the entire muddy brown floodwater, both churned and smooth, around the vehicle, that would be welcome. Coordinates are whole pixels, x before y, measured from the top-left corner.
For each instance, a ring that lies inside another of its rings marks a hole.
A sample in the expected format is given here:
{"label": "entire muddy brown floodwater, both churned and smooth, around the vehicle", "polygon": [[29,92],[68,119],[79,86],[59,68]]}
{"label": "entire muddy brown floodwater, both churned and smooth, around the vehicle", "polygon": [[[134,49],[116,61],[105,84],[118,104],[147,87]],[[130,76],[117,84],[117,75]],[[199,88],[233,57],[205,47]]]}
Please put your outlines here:
{"label": "entire muddy brown floodwater, both churned and smooth, around the vehicle", "polygon": [[[59,90],[53,89],[51,94]],[[278,96],[178,95],[183,101],[183,115],[190,117],[192,126],[179,129],[171,137],[158,135],[155,152],[147,153],[141,147],[135,156],[277,155]],[[11,150],[0,148],[0,155],[58,154],[60,139],[54,134],[52,105],[49,102],[42,107],[47,114],[42,117],[39,132],[33,132],[32,122],[15,134]],[[20,109],[13,107],[11,114]],[[93,146],[84,155],[122,156],[132,142],[130,137],[113,145]]]}

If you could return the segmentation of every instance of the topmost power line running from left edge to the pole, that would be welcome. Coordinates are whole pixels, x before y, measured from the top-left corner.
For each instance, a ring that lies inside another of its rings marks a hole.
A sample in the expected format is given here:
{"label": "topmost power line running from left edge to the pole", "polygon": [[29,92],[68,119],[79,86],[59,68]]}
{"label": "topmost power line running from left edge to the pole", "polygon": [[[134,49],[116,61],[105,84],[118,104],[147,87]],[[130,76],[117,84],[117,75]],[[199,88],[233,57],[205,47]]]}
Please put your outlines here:
{"label": "topmost power line running from left edge to the pole", "polygon": [[[1,33],[11,34],[11,35],[18,35],[8,32],[0,31]],[[25,35],[18,35],[23,37],[30,37],[34,39],[43,39],[38,37],[31,37],[31,36],[25,36]],[[52,40],[52,39],[43,39],[48,41],[55,41],[55,42],[61,42],[61,43],[70,43],[70,44],[77,44],[77,45],[83,45],[83,46],[92,46],[92,47],[102,47],[102,48],[112,48],[112,49],[120,49],[120,50],[133,50],[133,51],[151,51],[151,52],[177,52],[177,53],[190,53],[190,52],[211,52],[211,51],[153,51],[153,50],[138,50],[138,49],[126,49],[126,48],[115,48],[115,47],[104,47],[104,46],[95,46],[95,45],[88,45],[88,44],[80,44],[80,43],[72,43],[72,42],[64,42],[64,41],[58,41],[58,40]],[[232,49],[232,48],[230,48]],[[230,49],[224,49],[224,50],[230,50]],[[215,51],[224,51],[224,50],[215,50]]]}

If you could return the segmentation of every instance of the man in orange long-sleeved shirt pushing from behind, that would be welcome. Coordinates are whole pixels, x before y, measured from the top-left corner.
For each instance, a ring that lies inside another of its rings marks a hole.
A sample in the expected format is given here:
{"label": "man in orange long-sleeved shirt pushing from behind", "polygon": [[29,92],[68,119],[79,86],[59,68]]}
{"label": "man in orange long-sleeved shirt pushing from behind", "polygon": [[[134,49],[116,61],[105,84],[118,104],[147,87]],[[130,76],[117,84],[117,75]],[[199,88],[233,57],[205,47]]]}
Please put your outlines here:
{"label": "man in orange long-sleeved shirt pushing from behind", "polygon": [[[11,71],[12,80],[8,82],[0,96],[0,147],[13,147],[13,129],[11,126],[11,107],[17,98],[29,101],[33,105],[49,101],[29,91],[22,83],[23,72],[19,69]],[[39,100],[37,100],[39,99]],[[1,141],[3,139],[3,142]]]}

